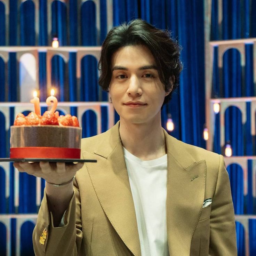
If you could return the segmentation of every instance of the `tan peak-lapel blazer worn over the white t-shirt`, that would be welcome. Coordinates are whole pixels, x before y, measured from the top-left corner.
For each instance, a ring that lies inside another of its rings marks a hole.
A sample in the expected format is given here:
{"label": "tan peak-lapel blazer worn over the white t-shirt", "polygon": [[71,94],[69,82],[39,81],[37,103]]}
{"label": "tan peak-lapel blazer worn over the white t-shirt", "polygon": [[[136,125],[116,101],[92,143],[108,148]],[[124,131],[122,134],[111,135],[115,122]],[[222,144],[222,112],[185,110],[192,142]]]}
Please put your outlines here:
{"label": "tan peak-lapel blazer worn over the white t-shirt", "polygon": [[[223,156],[163,131],[170,256],[236,256],[234,208]],[[75,176],[64,227],[53,227],[44,196],[33,232],[35,254],[140,256],[119,122],[105,133],[82,139],[81,150],[83,158],[97,163],[85,163]],[[202,208],[208,198],[212,203]]]}

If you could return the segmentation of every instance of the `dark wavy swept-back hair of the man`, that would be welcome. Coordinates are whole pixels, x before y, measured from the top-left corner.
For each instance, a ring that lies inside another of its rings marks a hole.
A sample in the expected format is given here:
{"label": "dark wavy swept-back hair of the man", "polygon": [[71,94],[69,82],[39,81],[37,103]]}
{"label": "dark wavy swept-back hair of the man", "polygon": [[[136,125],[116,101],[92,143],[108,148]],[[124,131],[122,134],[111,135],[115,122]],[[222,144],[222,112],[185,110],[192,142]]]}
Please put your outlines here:
{"label": "dark wavy swept-back hair of the man", "polygon": [[171,90],[165,97],[164,105],[170,101],[173,91],[179,84],[179,75],[183,67],[179,58],[181,46],[171,38],[170,31],[157,29],[142,19],[122,23],[113,27],[107,34],[98,63],[98,70],[101,71],[99,85],[104,91],[109,92],[112,55],[121,47],[136,45],[146,46],[151,51],[165,91]]}

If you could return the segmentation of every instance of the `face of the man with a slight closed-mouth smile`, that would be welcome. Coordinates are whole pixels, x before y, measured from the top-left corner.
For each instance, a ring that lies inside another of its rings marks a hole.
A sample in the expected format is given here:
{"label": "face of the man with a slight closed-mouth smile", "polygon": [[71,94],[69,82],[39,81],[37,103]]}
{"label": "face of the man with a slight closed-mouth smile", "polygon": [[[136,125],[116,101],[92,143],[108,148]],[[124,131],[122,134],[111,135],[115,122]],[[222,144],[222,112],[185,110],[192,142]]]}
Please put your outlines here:
{"label": "face of the man with a slight closed-mouth smile", "polygon": [[[126,46],[112,55],[109,93],[120,119],[131,123],[152,122],[160,115],[169,93],[160,81],[157,66],[145,46]],[[128,102],[140,102],[127,105]]]}

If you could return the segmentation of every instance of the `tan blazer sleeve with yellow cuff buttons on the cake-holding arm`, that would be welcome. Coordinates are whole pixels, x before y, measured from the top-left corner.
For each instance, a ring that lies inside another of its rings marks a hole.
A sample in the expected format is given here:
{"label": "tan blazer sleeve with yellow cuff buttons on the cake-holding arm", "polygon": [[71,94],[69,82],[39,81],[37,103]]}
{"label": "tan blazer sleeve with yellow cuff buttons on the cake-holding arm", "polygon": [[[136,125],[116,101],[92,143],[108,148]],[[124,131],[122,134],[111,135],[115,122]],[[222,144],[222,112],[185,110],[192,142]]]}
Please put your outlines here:
{"label": "tan blazer sleeve with yellow cuff buttons on the cake-holding arm", "polygon": [[33,231],[35,256],[78,256],[82,251],[81,200],[79,188],[74,181],[74,193],[64,215],[65,225],[54,227],[53,215],[49,212],[47,197],[44,196]]}

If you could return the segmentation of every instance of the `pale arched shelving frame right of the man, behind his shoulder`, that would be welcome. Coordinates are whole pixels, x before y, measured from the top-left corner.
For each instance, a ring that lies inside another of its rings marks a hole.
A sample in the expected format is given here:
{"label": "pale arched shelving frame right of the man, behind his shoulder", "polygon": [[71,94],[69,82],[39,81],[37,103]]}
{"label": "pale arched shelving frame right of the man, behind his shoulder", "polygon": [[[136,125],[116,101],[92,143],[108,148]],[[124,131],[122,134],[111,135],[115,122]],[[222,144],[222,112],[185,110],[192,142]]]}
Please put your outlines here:
{"label": "pale arched shelving frame right of the man, behind his shoulder", "polygon": [[[211,29],[211,2],[205,0],[205,104],[206,104],[206,127],[208,129],[209,139],[206,141],[207,150],[213,151],[214,145],[214,133],[215,133],[215,121],[216,114],[213,110],[213,104],[218,103],[220,105],[219,120],[220,120],[220,146],[221,149],[225,147],[225,111],[230,106],[238,107],[242,115],[242,125],[246,123],[247,118],[247,103],[250,102],[250,121],[251,121],[251,135],[255,137],[255,111],[256,111],[256,97],[239,97],[239,98],[212,98],[212,86],[213,86],[213,61],[214,61],[214,49],[218,49],[218,69],[219,69],[219,85],[222,87],[222,69],[223,69],[223,55],[229,49],[237,49],[240,53],[240,65],[243,69],[246,64],[245,46],[247,44],[253,45],[253,64],[254,64],[254,84],[256,84],[256,38],[236,39],[236,40],[218,40],[210,41],[210,29]],[[218,0],[218,26],[220,34],[222,26],[222,0]],[[243,81],[244,83],[244,81]],[[231,164],[237,164],[243,171],[243,195],[248,195],[248,160],[252,160],[252,176],[253,181],[251,187],[253,189],[253,198],[256,198],[256,156],[231,156],[224,157],[226,168]],[[251,202],[253,203],[253,202]],[[236,222],[243,226],[245,235],[245,256],[249,256],[249,219],[256,219],[256,215],[235,215]]]}

